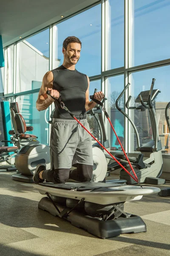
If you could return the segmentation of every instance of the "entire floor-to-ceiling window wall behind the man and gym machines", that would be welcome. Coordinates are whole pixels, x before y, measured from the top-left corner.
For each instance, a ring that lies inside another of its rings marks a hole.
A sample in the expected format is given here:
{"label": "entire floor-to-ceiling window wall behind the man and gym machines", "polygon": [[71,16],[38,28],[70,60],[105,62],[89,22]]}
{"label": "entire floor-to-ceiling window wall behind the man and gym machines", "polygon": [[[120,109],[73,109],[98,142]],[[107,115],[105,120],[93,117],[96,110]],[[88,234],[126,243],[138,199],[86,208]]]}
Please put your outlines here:
{"label": "entire floor-to-ceiling window wall behind the man and gym machines", "polygon": [[[165,119],[165,108],[170,102],[169,12],[170,0],[104,0],[58,24],[51,24],[50,29],[46,28],[16,42],[16,46],[14,44],[5,47],[6,64],[1,68],[0,86],[2,88],[3,81],[6,99],[17,97],[20,108],[25,108],[22,111],[26,122],[34,126],[33,133],[39,135],[41,143],[47,144],[48,110],[38,112],[35,109],[38,90],[49,67],[54,69],[63,64],[62,44],[65,38],[76,36],[82,42],[76,69],[89,76],[90,95],[94,94],[94,89],[100,91],[102,88],[108,98],[105,102],[106,110],[122,145],[128,151],[136,151],[136,135],[127,119],[117,110],[116,99],[129,81],[130,87],[125,97],[120,99],[119,107],[135,123],[140,144],[146,143],[153,137],[149,112],[132,109],[128,111],[125,99],[131,95],[130,105],[136,106],[135,99],[138,94],[149,90],[152,78],[156,78],[155,88],[161,90],[154,102],[159,137],[162,152],[170,154],[170,150],[165,148],[168,143],[170,148]],[[156,61],[159,63],[155,63]],[[31,92],[26,95],[27,91]],[[88,122],[92,133],[100,139],[98,124],[90,113]],[[105,129],[111,150],[121,151],[107,119]]]}

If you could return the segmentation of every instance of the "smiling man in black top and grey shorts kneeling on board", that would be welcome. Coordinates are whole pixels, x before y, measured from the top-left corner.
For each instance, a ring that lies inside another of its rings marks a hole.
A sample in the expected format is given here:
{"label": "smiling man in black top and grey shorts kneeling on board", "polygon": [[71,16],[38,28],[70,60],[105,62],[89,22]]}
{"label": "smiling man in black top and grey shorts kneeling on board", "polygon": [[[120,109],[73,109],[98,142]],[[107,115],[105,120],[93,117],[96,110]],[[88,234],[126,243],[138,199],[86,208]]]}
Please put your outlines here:
{"label": "smiling man in black top and grey shorts kneeling on board", "polygon": [[[93,172],[93,152],[91,136],[70,114],[51,98],[61,100],[77,119],[88,129],[86,111],[94,108],[95,102],[89,101],[89,78],[78,72],[75,65],[79,61],[82,43],[79,38],[68,37],[63,42],[63,64],[45,74],[36,102],[38,111],[45,110],[52,102],[55,104],[51,125],[51,170],[45,164],[37,166],[33,180],[40,183],[44,180],[52,183],[65,183],[68,178],[83,182],[90,181]],[[50,90],[51,96],[47,95]],[[102,92],[94,94],[101,101]],[[70,172],[71,166],[77,169]]]}

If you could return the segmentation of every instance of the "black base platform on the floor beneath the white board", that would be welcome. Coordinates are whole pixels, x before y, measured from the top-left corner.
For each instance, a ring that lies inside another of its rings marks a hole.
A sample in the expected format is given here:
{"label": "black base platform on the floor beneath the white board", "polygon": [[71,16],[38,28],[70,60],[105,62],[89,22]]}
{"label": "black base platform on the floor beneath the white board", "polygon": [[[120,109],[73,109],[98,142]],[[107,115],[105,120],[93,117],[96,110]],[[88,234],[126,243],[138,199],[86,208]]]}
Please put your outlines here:
{"label": "black base platform on the floor beneath the white board", "polygon": [[[57,209],[60,212],[63,210],[70,212],[70,209],[56,203]],[[38,208],[51,213],[51,215],[59,216],[59,212],[49,198],[44,197],[40,200]],[[127,217],[128,215],[128,217]],[[119,236],[123,233],[140,233],[146,232],[146,224],[139,216],[132,215],[129,213],[123,214],[114,220],[103,221],[102,218],[94,218],[85,215],[77,210],[72,210],[69,215],[64,217],[71,222],[75,227],[79,227],[88,231],[94,236],[98,236],[102,239]]]}

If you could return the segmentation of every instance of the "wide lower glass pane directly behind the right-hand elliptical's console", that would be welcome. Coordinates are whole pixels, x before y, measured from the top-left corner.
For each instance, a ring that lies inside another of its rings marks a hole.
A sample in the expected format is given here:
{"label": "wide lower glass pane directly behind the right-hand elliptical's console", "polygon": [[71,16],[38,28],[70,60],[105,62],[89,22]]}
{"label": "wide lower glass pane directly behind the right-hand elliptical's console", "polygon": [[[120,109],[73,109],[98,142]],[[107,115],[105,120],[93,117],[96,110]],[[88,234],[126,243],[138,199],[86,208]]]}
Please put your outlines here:
{"label": "wide lower glass pane directly behind the right-hand elliptical's console", "polygon": [[[156,110],[156,119],[158,122],[159,136],[163,148],[163,152],[170,154],[170,140],[169,149],[165,150],[165,145],[168,139],[168,128],[167,122],[165,119],[165,108],[167,103],[170,102],[170,93],[169,93],[169,80],[170,80],[170,66],[159,67],[150,70],[144,70],[141,72],[136,72],[132,74],[132,99],[134,105],[134,100],[141,91],[149,90],[152,82],[152,78],[156,78],[154,89],[161,90],[161,93],[158,94],[154,101],[154,107]],[[141,145],[152,139],[152,128],[150,123],[149,114],[147,111],[139,112],[132,111],[132,119],[136,125],[136,128],[139,132],[140,143]],[[134,134],[134,133],[133,133]],[[134,135],[134,141],[135,141]],[[133,138],[132,138],[133,141]],[[136,143],[132,143],[132,151],[136,150]]]}

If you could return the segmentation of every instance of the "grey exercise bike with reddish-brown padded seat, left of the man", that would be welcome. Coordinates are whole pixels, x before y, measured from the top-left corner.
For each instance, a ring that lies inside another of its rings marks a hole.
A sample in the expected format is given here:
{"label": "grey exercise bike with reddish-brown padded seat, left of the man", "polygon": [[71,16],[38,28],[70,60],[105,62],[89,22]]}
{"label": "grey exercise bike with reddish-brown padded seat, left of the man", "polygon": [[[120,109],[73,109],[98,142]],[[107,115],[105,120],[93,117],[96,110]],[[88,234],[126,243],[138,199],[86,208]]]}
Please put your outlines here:
{"label": "grey exercise bike with reddish-brown padded seat, left of the man", "polygon": [[45,163],[47,168],[50,168],[50,147],[40,144],[37,136],[26,134],[26,131],[33,131],[33,127],[26,126],[17,102],[10,103],[10,111],[14,127],[14,130],[10,131],[13,134],[11,141],[19,148],[15,156],[17,174],[12,175],[12,179],[33,183],[32,177],[39,163]]}

